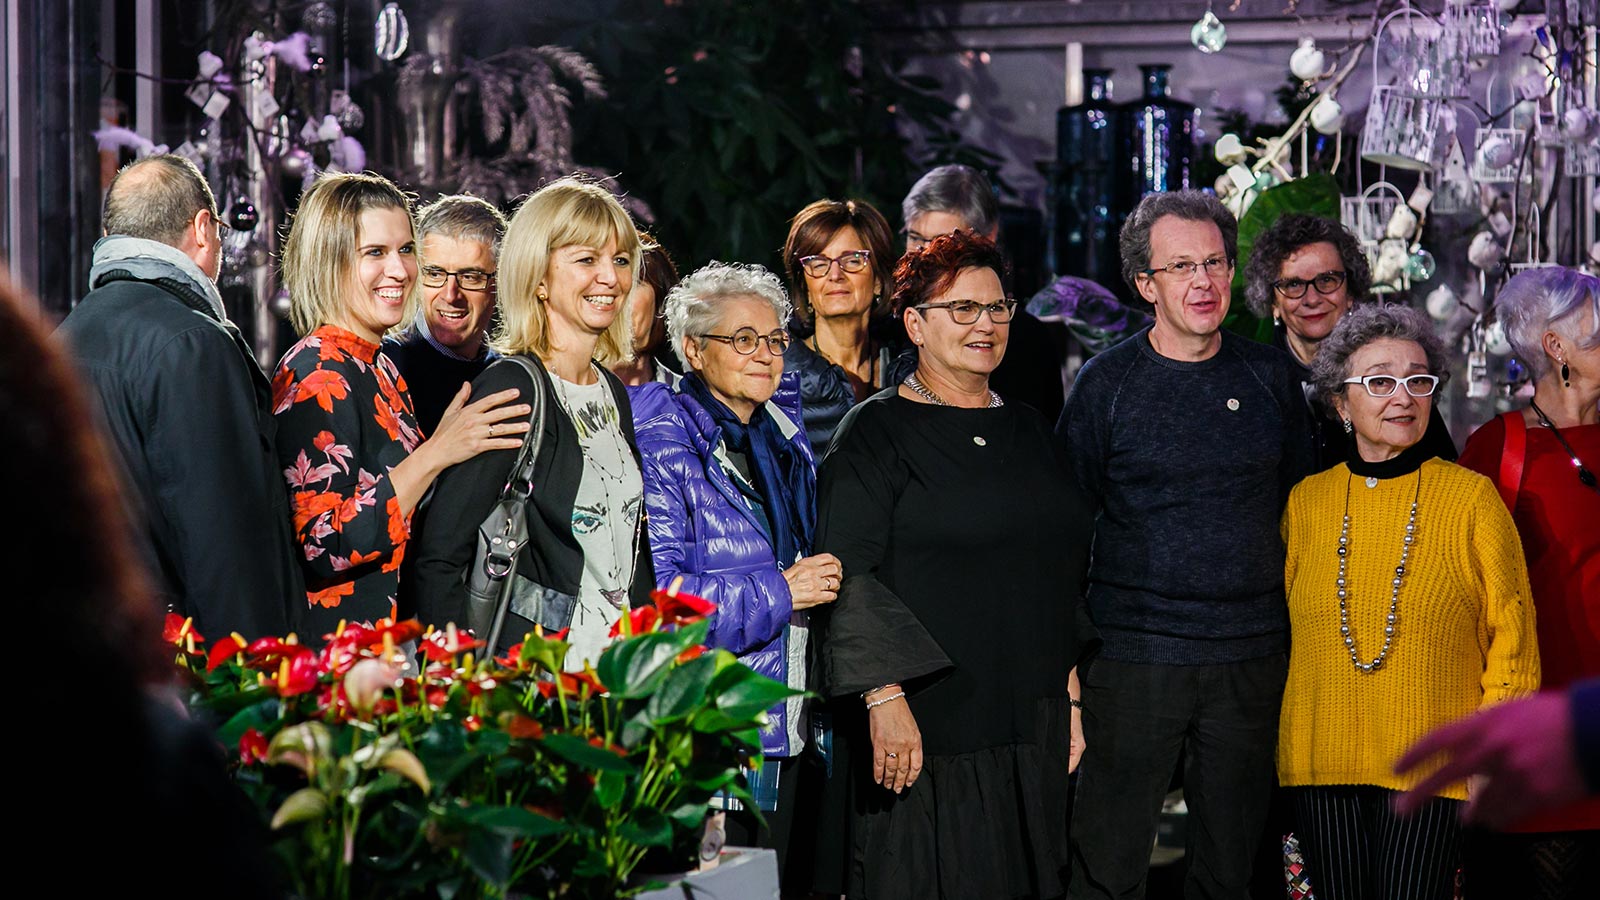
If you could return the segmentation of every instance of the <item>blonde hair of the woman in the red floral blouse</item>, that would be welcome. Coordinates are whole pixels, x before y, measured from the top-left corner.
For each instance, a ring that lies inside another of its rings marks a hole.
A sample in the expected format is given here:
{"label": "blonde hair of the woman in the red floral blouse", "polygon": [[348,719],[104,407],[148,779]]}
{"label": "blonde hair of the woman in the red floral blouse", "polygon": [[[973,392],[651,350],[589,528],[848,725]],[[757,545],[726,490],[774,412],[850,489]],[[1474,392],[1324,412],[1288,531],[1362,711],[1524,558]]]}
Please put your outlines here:
{"label": "blonde hair of the woman in the red floral blouse", "polygon": [[[290,323],[299,336],[338,322],[349,303],[362,242],[362,213],[400,210],[411,223],[411,197],[381,175],[330,173],[301,195],[283,242],[283,285],[290,291]],[[400,325],[416,317],[418,280],[406,291]]]}

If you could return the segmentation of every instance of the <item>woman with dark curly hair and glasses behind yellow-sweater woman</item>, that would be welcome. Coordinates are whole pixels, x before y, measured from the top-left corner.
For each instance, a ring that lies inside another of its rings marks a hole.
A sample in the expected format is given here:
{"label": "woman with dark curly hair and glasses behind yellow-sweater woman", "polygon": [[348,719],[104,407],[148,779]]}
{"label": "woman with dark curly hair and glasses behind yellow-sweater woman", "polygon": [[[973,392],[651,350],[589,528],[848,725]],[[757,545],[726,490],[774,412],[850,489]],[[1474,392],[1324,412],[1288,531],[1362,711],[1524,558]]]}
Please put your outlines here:
{"label": "woman with dark curly hair and glasses behind yellow-sweater woman", "polygon": [[[1290,213],[1272,223],[1250,250],[1245,267],[1245,299],[1261,319],[1272,319],[1272,344],[1290,356],[1306,394],[1312,471],[1346,461],[1354,439],[1339,418],[1315,400],[1310,362],[1333,327],[1357,304],[1370,299],[1373,283],[1366,253],[1344,226],[1322,216]],[[1440,460],[1456,460],[1456,442],[1435,404],[1429,413],[1426,445]]]}

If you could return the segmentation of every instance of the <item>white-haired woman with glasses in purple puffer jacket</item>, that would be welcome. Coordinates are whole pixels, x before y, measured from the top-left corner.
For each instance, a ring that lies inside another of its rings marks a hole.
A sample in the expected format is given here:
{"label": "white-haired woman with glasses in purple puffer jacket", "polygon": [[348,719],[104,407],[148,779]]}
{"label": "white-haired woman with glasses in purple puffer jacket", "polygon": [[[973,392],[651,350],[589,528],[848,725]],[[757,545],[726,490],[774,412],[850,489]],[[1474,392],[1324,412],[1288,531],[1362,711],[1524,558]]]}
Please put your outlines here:
{"label": "white-haired woman with glasses in purple puffer jacket", "polygon": [[[840,565],[811,554],[816,463],[794,376],[784,380],[789,298],[760,266],[712,263],[667,295],[667,340],[683,359],[675,386],[630,389],[643,456],[656,581],[717,604],[710,645],[760,674],[805,689],[808,609],[838,591]],[[805,748],[800,698],[771,709],[766,762],[750,777],[766,828],[730,812],[728,841],[789,857]],[[736,801],[734,801],[736,804]]]}

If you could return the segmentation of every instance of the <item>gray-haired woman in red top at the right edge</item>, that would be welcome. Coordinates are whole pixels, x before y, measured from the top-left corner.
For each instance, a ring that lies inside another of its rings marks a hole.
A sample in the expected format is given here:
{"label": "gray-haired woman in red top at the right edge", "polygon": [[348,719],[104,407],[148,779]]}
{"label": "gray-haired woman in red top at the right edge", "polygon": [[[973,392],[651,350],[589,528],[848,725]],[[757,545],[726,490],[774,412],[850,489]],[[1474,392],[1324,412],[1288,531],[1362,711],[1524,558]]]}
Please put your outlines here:
{"label": "gray-haired woman in red top at the right edge", "polygon": [[[1544,687],[1600,674],[1600,279],[1530,269],[1494,307],[1533,402],[1490,420],[1461,464],[1499,487],[1522,533],[1539,620]],[[1469,852],[1467,895],[1578,897],[1582,862],[1600,860],[1600,799],[1480,838]]]}

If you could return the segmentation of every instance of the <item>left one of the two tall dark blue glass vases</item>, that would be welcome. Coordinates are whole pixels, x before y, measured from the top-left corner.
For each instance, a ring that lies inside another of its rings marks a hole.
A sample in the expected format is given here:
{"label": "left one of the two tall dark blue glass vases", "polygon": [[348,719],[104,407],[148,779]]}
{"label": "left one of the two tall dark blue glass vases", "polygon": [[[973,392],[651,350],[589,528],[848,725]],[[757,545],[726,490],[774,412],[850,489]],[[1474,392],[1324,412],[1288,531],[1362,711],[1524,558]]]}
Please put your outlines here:
{"label": "left one of the two tall dark blue glass vases", "polygon": [[1056,112],[1056,274],[1115,283],[1122,154],[1110,69],[1085,69],[1083,80],[1083,102]]}

